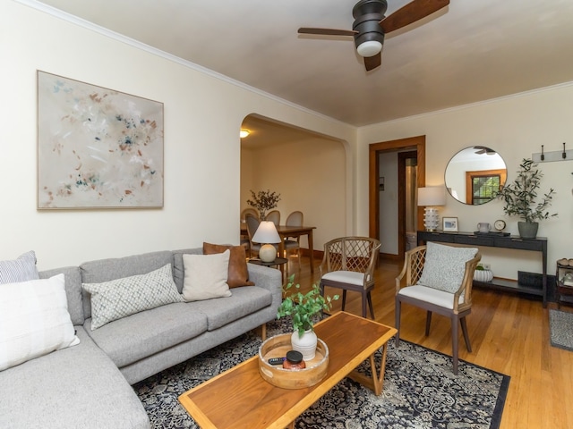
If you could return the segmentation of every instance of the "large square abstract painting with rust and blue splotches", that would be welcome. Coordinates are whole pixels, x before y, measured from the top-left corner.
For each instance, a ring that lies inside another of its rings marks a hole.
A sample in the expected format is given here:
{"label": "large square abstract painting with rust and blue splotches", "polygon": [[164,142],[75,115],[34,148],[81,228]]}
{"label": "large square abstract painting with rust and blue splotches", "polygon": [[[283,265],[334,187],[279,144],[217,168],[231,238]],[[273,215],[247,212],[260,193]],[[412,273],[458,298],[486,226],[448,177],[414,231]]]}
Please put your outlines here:
{"label": "large square abstract painting with rust and blue splotches", "polygon": [[38,209],[163,206],[163,103],[38,71]]}

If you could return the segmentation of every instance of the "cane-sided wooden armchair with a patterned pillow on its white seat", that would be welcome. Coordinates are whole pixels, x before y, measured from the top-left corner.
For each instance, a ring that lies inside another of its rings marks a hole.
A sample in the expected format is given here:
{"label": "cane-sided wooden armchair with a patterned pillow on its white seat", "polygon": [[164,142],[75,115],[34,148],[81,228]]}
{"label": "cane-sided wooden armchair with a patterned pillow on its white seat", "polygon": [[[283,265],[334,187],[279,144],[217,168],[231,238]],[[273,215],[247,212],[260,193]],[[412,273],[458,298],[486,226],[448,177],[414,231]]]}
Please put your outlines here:
{"label": "cane-sided wooden armchair with a patterned pillow on its white seat", "polygon": [[432,313],[445,315],[451,320],[453,370],[458,374],[458,324],[471,353],[466,316],[472,311],[474,271],[481,258],[477,248],[432,241],[406,252],[404,267],[396,278],[396,347],[400,341],[403,302],[426,310],[426,336],[430,334]]}

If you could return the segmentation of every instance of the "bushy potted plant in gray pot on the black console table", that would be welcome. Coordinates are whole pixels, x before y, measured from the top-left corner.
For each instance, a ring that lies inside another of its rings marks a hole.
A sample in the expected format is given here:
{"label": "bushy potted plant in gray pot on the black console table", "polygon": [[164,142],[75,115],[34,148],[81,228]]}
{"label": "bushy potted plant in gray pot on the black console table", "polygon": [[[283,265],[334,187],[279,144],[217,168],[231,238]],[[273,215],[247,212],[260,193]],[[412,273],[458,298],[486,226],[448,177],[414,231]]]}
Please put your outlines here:
{"label": "bushy potted plant in gray pot on the black console table", "polygon": [[519,235],[524,239],[535,239],[539,223],[549,217],[557,214],[549,214],[547,207],[552,205],[552,197],[555,194],[554,189],[543,194],[543,198],[537,202],[537,192],[540,188],[540,182],[543,172],[537,169],[537,164],[531,159],[525,158],[519,164],[516,180],[501,187],[496,193],[496,198],[503,199],[505,206],[503,211],[509,216],[518,216],[521,222],[517,223]]}

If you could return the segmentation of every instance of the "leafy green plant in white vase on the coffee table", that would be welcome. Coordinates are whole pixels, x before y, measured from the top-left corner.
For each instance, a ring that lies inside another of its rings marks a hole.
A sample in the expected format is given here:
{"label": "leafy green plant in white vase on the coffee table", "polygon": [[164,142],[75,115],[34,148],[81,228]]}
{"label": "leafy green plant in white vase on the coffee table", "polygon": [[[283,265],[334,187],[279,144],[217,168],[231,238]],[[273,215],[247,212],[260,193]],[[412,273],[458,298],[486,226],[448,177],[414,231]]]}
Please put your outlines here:
{"label": "leafy green plant in white vase on the coffee table", "polygon": [[[293,287],[295,291],[291,291]],[[300,288],[300,284],[295,285],[295,274],[291,275],[283,287],[286,298],[278,307],[277,318],[291,316],[294,331],[291,336],[292,347],[303,353],[304,360],[311,360],[314,358],[317,344],[313,327],[315,320],[322,311],[331,309],[332,301],[339,297],[323,297],[316,283],[306,293],[301,292]]]}

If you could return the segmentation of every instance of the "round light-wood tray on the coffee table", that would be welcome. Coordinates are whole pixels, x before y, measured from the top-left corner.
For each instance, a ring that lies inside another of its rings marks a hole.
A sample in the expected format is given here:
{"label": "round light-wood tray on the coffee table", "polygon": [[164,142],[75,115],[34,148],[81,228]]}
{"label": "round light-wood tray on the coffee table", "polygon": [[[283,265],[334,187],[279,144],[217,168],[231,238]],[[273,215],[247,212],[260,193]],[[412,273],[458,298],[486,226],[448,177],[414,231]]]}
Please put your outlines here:
{"label": "round light-wood tray on the coffee table", "polygon": [[261,377],[274,386],[284,389],[301,389],[319,383],[329,367],[329,348],[320,338],[316,347],[316,356],[305,361],[304,369],[285,369],[280,365],[270,365],[269,357],[285,357],[290,344],[290,333],[276,335],[264,341],[259,348],[259,372]]}

